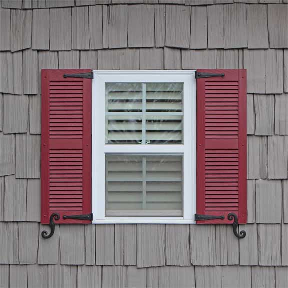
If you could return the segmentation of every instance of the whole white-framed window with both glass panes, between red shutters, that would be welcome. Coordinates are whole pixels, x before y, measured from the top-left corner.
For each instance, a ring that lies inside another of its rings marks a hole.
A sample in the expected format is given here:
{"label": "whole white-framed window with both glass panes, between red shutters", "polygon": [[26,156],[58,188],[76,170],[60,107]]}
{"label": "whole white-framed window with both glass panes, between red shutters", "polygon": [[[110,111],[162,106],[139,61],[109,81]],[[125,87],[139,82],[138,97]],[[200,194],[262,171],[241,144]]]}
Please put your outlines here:
{"label": "whole white-framed window with both glass panes, between red shutters", "polygon": [[94,71],[95,223],[191,223],[195,213],[194,71]]}

